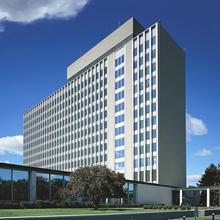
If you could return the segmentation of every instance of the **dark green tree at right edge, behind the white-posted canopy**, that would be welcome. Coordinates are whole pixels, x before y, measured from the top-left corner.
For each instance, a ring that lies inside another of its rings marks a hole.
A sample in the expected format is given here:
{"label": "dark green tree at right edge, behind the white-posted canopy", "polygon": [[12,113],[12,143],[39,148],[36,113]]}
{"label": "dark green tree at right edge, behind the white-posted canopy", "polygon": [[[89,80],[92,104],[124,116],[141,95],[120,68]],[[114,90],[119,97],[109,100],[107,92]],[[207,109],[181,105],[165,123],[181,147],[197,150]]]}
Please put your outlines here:
{"label": "dark green tree at right edge, behind the white-posted canopy", "polygon": [[[202,175],[201,180],[197,184],[198,186],[217,186],[220,185],[220,164],[215,166],[214,164],[210,164],[205,173]],[[212,206],[218,204],[218,191],[212,190],[210,192],[210,204]],[[200,204],[202,206],[206,205],[206,193],[203,191],[201,193]]]}

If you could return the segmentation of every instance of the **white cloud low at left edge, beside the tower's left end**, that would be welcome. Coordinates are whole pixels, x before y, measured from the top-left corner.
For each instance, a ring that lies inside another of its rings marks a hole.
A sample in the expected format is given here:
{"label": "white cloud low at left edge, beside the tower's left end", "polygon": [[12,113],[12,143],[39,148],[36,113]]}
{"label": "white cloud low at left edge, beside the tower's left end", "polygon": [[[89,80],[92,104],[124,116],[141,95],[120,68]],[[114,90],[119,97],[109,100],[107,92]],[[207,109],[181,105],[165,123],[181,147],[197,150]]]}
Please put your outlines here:
{"label": "white cloud low at left edge, beside the tower's left end", "polygon": [[0,155],[6,153],[22,155],[23,154],[23,136],[11,136],[0,138]]}

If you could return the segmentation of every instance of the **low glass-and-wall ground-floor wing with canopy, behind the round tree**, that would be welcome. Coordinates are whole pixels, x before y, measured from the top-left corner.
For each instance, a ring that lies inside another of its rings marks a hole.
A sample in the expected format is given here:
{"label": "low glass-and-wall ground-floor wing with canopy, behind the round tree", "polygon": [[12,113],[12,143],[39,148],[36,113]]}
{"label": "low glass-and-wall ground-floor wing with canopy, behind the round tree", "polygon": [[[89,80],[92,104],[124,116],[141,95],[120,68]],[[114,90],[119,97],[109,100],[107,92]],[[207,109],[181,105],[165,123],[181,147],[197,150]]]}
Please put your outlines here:
{"label": "low glass-and-wall ground-floor wing with canopy, behind the round tree", "polygon": [[[0,163],[0,200],[62,200],[70,172]],[[105,203],[219,206],[220,186],[178,188],[126,180],[126,198]]]}

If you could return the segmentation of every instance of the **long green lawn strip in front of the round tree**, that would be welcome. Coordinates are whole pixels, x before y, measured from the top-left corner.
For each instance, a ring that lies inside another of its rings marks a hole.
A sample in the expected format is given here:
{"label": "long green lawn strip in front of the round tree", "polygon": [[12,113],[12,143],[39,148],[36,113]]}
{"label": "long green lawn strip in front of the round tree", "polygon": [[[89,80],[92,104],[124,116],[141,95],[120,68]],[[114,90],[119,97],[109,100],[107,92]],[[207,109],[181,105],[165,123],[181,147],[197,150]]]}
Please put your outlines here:
{"label": "long green lawn strip in front of the round tree", "polygon": [[[168,210],[166,210],[168,211]],[[156,212],[143,208],[48,208],[48,209],[0,209],[0,217],[14,216],[50,216],[50,215],[89,215],[89,214],[113,214],[113,213],[146,213]],[[162,212],[162,210],[158,210]]]}

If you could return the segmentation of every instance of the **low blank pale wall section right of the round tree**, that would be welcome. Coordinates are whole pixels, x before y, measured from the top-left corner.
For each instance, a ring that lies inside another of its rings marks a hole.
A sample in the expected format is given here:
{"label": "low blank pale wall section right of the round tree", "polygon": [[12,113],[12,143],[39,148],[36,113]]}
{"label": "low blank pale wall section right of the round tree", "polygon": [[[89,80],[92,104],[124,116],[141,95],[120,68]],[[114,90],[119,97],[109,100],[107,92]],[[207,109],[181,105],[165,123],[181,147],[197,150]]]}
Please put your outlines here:
{"label": "low blank pale wall section right of the round tree", "polygon": [[173,189],[160,185],[137,184],[135,200],[137,204],[172,205]]}

